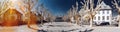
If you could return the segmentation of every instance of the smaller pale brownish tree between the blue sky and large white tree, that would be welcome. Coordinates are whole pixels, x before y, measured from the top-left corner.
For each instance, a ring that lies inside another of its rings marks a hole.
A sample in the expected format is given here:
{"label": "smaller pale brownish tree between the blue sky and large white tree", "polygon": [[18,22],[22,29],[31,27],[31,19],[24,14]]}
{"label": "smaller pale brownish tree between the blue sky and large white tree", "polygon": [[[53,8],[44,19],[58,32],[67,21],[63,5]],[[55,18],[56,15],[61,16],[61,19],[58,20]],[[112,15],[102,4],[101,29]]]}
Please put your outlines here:
{"label": "smaller pale brownish tree between the blue sky and large white tree", "polygon": [[[65,17],[65,16],[64,16]],[[72,19],[73,18],[73,19]],[[78,2],[76,2],[76,6],[72,5],[72,8],[70,8],[70,10],[68,11],[68,17],[66,18],[67,20],[75,20],[74,22],[76,24],[79,23],[80,18],[79,18],[79,14],[78,14]]]}

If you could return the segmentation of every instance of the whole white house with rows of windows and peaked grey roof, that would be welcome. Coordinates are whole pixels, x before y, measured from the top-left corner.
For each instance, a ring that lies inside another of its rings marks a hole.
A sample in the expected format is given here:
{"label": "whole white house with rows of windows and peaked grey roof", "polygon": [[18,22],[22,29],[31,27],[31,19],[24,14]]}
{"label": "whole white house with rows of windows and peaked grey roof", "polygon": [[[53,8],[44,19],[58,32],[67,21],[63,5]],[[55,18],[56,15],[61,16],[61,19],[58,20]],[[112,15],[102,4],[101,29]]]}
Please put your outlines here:
{"label": "whole white house with rows of windows and peaked grey roof", "polygon": [[94,23],[100,25],[101,23],[108,22],[111,24],[112,21],[112,10],[109,5],[106,5],[103,1],[101,3],[100,11],[94,17]]}

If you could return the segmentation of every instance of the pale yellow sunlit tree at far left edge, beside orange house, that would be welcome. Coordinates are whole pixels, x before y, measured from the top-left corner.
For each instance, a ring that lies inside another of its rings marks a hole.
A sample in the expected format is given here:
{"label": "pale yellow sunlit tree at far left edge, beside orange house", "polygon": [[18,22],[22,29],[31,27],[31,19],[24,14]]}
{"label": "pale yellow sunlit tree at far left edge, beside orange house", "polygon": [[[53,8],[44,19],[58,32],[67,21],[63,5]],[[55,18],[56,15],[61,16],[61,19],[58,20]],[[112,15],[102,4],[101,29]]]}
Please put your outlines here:
{"label": "pale yellow sunlit tree at far left edge, beside orange house", "polygon": [[9,9],[10,3],[9,0],[0,0],[0,22],[3,20],[3,13]]}

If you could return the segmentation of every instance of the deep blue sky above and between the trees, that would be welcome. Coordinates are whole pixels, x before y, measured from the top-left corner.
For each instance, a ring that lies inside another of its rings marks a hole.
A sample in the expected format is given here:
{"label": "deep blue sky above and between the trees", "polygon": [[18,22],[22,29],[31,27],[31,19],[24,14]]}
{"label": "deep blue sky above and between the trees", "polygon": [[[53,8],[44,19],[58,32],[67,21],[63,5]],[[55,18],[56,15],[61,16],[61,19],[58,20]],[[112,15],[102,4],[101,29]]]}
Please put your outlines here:
{"label": "deep blue sky above and between the trees", "polygon": [[[76,1],[80,2],[82,0],[40,0],[39,3],[43,3],[44,7],[49,9],[49,11],[56,16],[65,15],[69,8],[71,8],[72,5],[75,5]],[[97,0],[95,0],[95,2],[96,1]],[[110,5],[112,7],[111,1],[112,0],[104,0],[107,5]],[[79,3],[79,6],[82,5]],[[113,15],[116,15],[116,12],[117,11],[113,11]]]}

